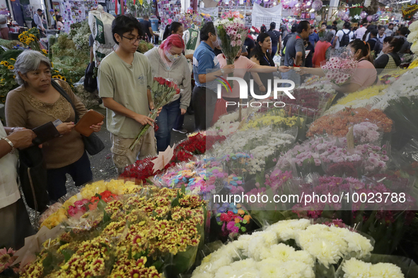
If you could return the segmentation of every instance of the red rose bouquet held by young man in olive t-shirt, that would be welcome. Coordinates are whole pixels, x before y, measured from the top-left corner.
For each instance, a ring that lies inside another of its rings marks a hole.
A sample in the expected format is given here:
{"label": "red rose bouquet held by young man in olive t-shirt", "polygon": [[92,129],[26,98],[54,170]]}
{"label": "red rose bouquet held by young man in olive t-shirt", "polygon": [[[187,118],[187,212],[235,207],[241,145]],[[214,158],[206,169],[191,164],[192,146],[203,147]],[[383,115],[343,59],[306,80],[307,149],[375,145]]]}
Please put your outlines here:
{"label": "red rose bouquet held by young man in olive t-shirt", "polygon": [[[154,103],[154,109],[149,112],[148,116],[155,120],[157,117],[158,109],[170,103],[173,100],[173,97],[178,94],[180,94],[180,88],[175,85],[173,81],[161,77],[155,77],[151,87],[151,96]],[[135,145],[139,143],[139,139],[146,134],[149,127],[149,123],[147,123],[145,126],[142,126],[141,131],[139,131],[137,138],[134,140],[134,143],[129,146],[129,150],[134,150]]]}

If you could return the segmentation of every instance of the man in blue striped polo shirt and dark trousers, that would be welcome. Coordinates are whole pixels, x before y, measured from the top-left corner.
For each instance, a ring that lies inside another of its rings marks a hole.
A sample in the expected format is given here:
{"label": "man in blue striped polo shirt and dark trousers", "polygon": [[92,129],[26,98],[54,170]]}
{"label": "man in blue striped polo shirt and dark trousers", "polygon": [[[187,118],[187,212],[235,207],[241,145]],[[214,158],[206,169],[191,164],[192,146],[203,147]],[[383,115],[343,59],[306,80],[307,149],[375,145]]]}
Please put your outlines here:
{"label": "man in blue striped polo shirt and dark trousers", "polygon": [[214,23],[206,23],[200,29],[200,44],[193,54],[195,88],[192,94],[195,109],[195,130],[204,131],[211,126],[217,100],[216,76],[233,72],[233,65],[220,69],[214,49],[219,46]]}

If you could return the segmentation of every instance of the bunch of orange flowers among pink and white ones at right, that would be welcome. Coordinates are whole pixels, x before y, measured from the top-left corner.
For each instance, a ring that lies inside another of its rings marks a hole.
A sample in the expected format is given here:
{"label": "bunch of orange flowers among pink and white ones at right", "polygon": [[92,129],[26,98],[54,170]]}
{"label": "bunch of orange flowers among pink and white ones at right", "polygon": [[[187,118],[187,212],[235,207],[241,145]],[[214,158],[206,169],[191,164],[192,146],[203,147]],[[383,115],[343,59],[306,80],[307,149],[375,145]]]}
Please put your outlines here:
{"label": "bunch of orange flowers among pink and white ones at right", "polygon": [[345,107],[342,111],[322,116],[320,119],[314,121],[312,125],[310,125],[309,131],[306,135],[308,137],[325,134],[345,136],[347,135],[350,126],[354,126],[354,124],[362,123],[364,121],[375,123],[376,126],[378,126],[378,128],[385,133],[392,130],[393,121],[379,109],[373,109],[370,111],[362,107],[356,109]]}

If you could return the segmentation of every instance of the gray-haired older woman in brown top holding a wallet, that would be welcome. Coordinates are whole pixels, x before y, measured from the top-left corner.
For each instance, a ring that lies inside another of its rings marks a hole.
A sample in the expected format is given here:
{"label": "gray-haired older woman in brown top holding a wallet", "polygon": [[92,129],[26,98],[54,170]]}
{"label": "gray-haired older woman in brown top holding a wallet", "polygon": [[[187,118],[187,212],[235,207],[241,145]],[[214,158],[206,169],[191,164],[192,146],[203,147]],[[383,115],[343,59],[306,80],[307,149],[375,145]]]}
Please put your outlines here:
{"label": "gray-haired older woman in brown top holding a wallet", "polygon": [[[50,121],[61,121],[57,131],[62,136],[42,144],[47,167],[48,193],[52,200],[66,194],[66,174],[70,174],[76,186],[93,180],[90,161],[84,149],[81,134],[74,131],[76,113],[81,118],[86,107],[74,95],[68,83],[52,80],[51,63],[40,52],[26,50],[15,64],[16,81],[20,87],[8,92],[6,98],[6,121],[8,126],[33,129]],[[71,102],[57,89],[62,87]],[[91,126],[100,131],[103,122]]]}

